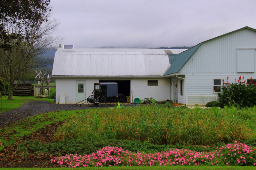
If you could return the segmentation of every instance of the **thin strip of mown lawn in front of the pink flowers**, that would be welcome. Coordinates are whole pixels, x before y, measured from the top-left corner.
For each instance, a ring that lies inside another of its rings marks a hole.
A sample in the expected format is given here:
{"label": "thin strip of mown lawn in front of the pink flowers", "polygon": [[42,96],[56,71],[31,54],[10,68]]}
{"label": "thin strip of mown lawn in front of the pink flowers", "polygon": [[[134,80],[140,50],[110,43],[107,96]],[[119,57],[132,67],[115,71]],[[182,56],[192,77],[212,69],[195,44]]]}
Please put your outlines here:
{"label": "thin strip of mown lawn in front of the pink flowers", "polygon": [[86,168],[0,168],[1,170],[26,170],[26,169],[39,169],[39,170],[48,170],[48,169],[56,169],[56,170],[71,170],[71,169],[84,169],[84,170],[243,170],[243,169],[255,169],[255,166],[135,166],[135,167],[86,167]]}

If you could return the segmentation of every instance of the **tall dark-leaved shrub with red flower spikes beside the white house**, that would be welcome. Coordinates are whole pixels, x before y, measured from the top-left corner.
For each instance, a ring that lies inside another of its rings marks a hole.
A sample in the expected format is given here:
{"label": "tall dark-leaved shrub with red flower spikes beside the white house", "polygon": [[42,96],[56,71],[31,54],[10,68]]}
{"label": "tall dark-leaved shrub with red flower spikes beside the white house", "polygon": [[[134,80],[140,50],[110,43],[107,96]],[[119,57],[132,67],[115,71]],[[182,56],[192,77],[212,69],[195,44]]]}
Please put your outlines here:
{"label": "tall dark-leaved shrub with red flower spikes beside the white house", "polygon": [[[252,77],[251,77],[252,81]],[[236,107],[252,107],[256,105],[256,86],[255,82],[247,84],[244,77],[241,76],[234,83],[230,83],[227,78],[227,83],[222,80],[222,93],[218,93],[220,107],[232,106]]]}

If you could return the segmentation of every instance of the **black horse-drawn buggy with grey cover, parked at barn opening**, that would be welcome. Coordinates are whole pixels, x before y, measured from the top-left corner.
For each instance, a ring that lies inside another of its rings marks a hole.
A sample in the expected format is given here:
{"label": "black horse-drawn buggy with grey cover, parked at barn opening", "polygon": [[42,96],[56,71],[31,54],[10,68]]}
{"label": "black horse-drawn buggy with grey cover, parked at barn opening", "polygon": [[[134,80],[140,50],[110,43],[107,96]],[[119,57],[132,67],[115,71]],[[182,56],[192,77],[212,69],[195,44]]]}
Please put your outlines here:
{"label": "black horse-drawn buggy with grey cover, parked at barn opening", "polygon": [[117,83],[94,83],[93,95],[87,98],[90,106],[112,105],[114,103],[124,104],[125,97],[117,93]]}

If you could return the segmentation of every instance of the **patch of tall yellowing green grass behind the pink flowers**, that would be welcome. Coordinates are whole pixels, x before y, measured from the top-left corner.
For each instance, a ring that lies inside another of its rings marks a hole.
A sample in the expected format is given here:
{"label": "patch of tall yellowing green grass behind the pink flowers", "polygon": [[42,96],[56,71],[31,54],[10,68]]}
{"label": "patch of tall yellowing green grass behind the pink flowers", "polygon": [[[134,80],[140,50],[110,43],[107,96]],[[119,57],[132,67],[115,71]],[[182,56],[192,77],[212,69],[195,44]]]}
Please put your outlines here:
{"label": "patch of tall yellowing green grass behind the pink flowers", "polygon": [[212,145],[256,136],[256,108],[89,109],[60,125],[54,141],[128,139],[153,144]]}

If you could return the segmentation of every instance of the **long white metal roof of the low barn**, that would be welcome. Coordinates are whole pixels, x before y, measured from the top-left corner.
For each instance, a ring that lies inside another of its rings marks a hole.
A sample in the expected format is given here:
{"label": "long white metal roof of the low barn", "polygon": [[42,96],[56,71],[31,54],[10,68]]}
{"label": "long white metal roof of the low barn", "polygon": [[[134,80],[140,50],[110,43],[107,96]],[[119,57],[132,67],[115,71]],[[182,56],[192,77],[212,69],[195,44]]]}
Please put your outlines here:
{"label": "long white metal roof of the low barn", "polygon": [[53,77],[162,76],[169,68],[163,49],[74,48],[55,53]]}

